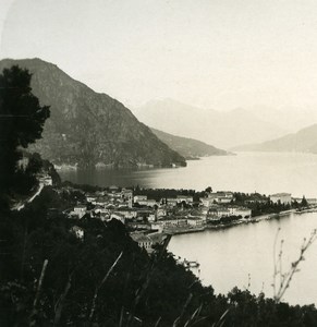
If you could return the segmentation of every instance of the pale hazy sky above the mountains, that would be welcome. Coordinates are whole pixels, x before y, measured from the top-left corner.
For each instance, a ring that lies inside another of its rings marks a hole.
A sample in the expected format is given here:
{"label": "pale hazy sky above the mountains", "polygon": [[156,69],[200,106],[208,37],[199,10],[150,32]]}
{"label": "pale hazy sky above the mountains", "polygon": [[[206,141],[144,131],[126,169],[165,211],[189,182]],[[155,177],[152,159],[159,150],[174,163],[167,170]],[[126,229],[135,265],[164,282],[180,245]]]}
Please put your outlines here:
{"label": "pale hazy sky above the mountains", "polygon": [[0,0],[1,58],[34,58],[127,106],[317,104],[316,0]]}

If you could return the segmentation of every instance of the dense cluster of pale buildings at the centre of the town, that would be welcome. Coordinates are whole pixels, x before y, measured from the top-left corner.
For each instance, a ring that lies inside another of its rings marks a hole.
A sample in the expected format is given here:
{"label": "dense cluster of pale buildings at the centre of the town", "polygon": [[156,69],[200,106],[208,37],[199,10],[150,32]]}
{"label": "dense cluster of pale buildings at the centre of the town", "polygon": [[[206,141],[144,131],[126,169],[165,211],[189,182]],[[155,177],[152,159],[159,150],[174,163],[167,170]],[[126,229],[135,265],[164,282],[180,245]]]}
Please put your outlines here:
{"label": "dense cluster of pale buildings at the centre of the town", "polygon": [[236,206],[233,202],[232,192],[209,193],[194,203],[193,196],[178,195],[156,201],[147,195],[134,195],[132,190],[113,186],[109,191],[86,193],[85,202],[74,206],[69,216],[118,219],[132,231],[175,232],[180,229],[199,229],[209,221],[224,217],[251,217],[251,209]]}

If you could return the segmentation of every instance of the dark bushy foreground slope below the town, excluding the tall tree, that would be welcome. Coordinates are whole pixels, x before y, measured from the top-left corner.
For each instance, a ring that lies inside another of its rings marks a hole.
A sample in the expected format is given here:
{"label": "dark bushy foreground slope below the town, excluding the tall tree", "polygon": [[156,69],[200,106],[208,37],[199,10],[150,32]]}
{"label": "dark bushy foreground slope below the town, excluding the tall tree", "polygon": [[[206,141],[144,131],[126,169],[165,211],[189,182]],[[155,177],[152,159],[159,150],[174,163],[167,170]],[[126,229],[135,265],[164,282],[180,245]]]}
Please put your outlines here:
{"label": "dark bushy foreground slope below the town, excluding the tall tree", "polygon": [[[2,220],[1,326],[32,322],[35,326],[119,326],[120,322],[121,326],[155,326],[160,317],[159,326],[172,326],[175,320],[175,326],[184,326],[193,316],[195,326],[212,326],[227,311],[222,326],[317,324],[313,305],[290,306],[239,289],[215,295],[212,288],[203,287],[161,246],[148,256],[117,220],[76,220],[63,214],[49,218],[50,208],[58,203],[71,204],[62,192],[45,187],[22,211],[11,211]],[[83,239],[76,238],[74,227],[84,231]],[[34,306],[46,259],[39,301]]]}

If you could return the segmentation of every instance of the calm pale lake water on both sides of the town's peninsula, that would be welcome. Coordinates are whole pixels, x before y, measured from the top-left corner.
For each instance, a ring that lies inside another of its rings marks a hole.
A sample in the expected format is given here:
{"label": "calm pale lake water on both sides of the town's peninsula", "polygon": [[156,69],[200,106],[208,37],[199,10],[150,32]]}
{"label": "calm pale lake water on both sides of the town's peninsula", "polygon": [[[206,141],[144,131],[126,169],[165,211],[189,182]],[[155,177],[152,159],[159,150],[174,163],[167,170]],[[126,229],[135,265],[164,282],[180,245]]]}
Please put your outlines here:
{"label": "calm pale lake water on both sides of the town's peninsula", "polygon": [[[317,155],[239,153],[188,161],[186,168],[150,170],[95,170],[60,172],[63,180],[95,185],[139,185],[231,190],[317,197]],[[176,235],[169,250],[183,258],[200,263],[199,277],[216,292],[227,293],[234,286],[272,296],[273,243],[278,228],[284,239],[283,268],[297,258],[304,237],[317,228],[317,214],[290,215],[279,220],[243,225],[227,230]],[[301,271],[294,276],[285,301],[317,304],[317,242],[306,254]],[[198,274],[198,270],[196,270]],[[249,276],[249,277],[248,277]]]}

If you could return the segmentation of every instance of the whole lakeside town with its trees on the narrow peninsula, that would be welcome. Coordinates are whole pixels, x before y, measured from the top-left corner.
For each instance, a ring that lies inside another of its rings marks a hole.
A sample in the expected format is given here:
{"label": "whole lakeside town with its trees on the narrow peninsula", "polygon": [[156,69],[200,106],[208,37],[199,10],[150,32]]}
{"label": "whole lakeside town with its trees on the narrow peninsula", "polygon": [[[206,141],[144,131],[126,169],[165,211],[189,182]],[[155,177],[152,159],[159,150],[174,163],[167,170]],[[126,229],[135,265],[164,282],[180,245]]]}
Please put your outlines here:
{"label": "whole lakeside town with its trees on the narrow peninsula", "polygon": [[[51,186],[50,177],[41,177],[44,186]],[[216,191],[209,186],[205,191],[98,187],[63,183],[56,191],[63,197],[76,194],[75,204],[62,214],[71,219],[94,218],[101,221],[121,221],[131,238],[153,252],[155,244],[161,243],[168,234],[199,232],[206,229],[227,228],[240,223],[271,219],[290,211],[302,213],[317,206],[317,198],[292,197],[290,193],[269,196],[259,193]],[[57,208],[50,215],[58,215]],[[84,230],[74,225],[72,231],[84,238]]]}

